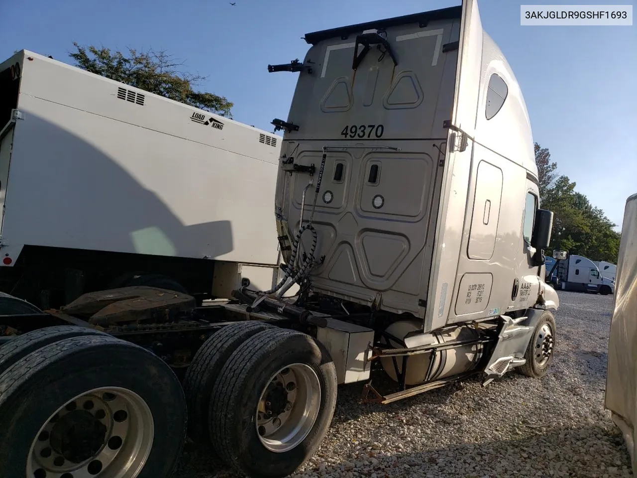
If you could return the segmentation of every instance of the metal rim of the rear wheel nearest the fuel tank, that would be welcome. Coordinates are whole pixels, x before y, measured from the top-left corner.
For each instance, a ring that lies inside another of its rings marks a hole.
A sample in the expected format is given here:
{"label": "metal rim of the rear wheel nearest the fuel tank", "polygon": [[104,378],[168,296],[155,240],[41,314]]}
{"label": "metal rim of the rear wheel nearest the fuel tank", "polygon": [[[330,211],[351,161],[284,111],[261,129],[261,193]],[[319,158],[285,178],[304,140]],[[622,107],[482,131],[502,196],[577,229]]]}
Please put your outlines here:
{"label": "metal rim of the rear wheel nearest the fuel tank", "polygon": [[303,442],[318,417],[320,393],[317,373],[304,363],[272,375],[259,397],[255,419],[264,447],[283,453]]}

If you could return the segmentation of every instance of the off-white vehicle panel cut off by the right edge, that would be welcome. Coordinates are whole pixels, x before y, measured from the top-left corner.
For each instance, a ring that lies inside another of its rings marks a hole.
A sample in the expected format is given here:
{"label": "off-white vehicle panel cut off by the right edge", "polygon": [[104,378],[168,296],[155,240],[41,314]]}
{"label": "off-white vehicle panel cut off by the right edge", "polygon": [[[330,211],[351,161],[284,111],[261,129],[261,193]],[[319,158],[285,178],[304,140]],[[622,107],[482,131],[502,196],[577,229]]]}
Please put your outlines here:
{"label": "off-white vehicle panel cut off by the right edge", "polygon": [[637,474],[637,194],[626,199],[608,338],[605,407],[622,431]]}

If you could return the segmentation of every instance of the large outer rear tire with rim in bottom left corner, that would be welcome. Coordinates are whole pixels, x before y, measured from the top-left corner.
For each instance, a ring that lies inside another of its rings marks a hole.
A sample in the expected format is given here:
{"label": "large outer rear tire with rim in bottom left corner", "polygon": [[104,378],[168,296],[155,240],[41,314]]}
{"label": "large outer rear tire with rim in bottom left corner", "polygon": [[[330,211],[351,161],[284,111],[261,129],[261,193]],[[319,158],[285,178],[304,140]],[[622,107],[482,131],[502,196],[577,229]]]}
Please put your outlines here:
{"label": "large outer rear tire with rim in bottom left corner", "polygon": [[175,373],[114,337],[65,338],[0,374],[3,476],[169,477],[185,423]]}

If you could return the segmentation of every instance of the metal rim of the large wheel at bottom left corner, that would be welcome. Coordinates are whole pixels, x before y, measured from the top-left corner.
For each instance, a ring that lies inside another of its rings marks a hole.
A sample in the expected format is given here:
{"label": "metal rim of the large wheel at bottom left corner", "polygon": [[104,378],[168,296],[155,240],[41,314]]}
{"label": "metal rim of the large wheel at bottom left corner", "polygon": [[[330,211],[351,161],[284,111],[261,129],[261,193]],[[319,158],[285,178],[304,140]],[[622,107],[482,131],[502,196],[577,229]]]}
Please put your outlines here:
{"label": "metal rim of the large wheel at bottom left corner", "polygon": [[135,478],[154,437],[147,403],[131,390],[103,387],[64,403],[38,431],[27,478]]}

